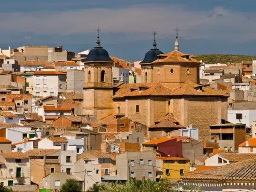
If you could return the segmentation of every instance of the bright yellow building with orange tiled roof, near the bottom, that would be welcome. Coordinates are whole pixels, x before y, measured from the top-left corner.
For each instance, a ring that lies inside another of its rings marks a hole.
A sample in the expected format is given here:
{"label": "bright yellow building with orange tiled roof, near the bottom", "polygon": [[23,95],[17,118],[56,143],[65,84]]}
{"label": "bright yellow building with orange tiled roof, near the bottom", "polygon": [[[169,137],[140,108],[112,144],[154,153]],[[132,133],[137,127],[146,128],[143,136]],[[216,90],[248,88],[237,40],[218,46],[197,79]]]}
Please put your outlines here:
{"label": "bright yellow building with orange tiled roof, near the bottom", "polygon": [[163,178],[180,179],[184,173],[189,172],[190,163],[188,158],[157,157],[157,161],[163,167]]}

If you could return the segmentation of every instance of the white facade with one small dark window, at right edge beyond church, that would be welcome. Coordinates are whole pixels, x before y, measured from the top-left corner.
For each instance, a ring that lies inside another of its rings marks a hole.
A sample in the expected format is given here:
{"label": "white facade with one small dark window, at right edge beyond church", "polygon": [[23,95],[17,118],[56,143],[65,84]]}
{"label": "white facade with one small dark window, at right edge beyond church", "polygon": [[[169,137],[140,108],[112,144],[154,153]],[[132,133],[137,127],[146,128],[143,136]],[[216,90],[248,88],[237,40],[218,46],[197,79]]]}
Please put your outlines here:
{"label": "white facade with one small dark window, at right edge beyond church", "polygon": [[[242,114],[242,119],[237,119],[238,115]],[[256,120],[256,110],[228,110],[227,111],[227,121],[232,123],[244,123],[247,127],[253,124]]]}

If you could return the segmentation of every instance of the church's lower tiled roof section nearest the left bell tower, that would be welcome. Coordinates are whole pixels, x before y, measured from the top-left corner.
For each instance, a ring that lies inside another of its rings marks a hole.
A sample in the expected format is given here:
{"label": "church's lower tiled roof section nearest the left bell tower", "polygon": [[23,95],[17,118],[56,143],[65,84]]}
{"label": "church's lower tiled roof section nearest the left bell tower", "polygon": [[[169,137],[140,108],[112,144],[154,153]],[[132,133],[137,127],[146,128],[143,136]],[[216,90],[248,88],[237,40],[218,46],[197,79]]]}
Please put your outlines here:
{"label": "church's lower tiled roof section nearest the left bell tower", "polygon": [[116,91],[113,98],[122,98],[129,96],[168,96],[171,89],[164,86],[160,81],[152,84],[122,84]]}

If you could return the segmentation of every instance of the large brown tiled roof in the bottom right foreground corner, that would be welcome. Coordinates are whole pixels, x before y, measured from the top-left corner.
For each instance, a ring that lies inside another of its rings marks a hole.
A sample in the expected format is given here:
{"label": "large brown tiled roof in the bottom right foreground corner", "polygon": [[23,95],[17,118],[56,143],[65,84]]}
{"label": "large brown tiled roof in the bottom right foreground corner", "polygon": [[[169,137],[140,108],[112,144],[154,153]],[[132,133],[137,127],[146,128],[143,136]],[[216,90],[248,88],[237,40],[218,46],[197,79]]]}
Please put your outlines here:
{"label": "large brown tiled roof in the bottom right foreground corner", "polygon": [[189,172],[182,177],[182,180],[255,181],[256,159],[245,160],[198,172]]}

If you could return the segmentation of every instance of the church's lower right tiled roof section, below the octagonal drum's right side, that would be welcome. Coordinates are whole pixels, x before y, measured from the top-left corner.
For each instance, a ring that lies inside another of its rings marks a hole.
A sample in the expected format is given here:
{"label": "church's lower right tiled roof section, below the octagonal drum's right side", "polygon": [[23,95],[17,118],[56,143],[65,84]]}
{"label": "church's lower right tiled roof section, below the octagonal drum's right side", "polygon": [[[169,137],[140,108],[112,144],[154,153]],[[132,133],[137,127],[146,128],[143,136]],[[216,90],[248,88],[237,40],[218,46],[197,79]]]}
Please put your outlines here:
{"label": "church's lower right tiled roof section, below the octagonal drum's right side", "polygon": [[172,89],[171,96],[224,96],[228,97],[227,94],[214,90],[213,88],[204,87],[200,84],[196,84],[192,81],[186,81],[183,84]]}

